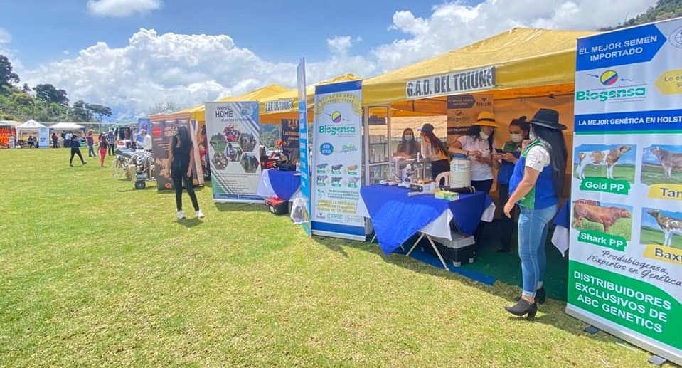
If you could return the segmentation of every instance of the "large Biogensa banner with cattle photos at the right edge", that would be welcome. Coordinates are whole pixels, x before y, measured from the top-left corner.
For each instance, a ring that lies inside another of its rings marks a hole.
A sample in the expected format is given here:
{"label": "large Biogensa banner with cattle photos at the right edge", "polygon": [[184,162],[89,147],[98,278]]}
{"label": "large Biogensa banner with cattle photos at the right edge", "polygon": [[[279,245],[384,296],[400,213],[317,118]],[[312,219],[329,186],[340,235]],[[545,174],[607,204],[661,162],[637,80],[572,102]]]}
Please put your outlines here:
{"label": "large Biogensa banner with cattle photos at the right edge", "polygon": [[682,364],[682,19],[581,38],[569,315]]}

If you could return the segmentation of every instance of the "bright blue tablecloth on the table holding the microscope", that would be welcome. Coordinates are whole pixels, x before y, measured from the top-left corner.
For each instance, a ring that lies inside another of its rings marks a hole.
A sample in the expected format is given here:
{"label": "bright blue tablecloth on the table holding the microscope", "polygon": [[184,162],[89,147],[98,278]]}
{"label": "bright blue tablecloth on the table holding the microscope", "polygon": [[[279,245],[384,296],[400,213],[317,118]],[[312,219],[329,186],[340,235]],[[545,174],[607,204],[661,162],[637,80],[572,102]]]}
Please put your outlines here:
{"label": "bright blue tablecloth on the table holding the microscope", "polygon": [[396,186],[363,186],[360,194],[370,215],[379,245],[385,253],[395,251],[410,236],[449,209],[457,229],[467,235],[476,231],[481,215],[492,203],[487,193],[459,194],[457,201],[432,195],[407,196]]}

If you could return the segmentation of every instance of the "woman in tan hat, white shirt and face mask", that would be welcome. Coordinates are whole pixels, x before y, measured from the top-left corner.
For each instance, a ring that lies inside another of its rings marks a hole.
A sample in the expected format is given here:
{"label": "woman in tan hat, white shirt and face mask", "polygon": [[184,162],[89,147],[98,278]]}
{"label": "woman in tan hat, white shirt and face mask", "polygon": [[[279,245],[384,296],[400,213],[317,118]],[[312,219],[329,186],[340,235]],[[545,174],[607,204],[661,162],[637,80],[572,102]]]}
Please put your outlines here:
{"label": "woman in tan hat, white shirt and face mask", "polygon": [[492,112],[481,112],[466,135],[460,135],[449,147],[452,153],[463,153],[471,159],[471,186],[476,191],[490,192],[493,170],[499,162],[491,156],[494,152],[494,134],[497,124]]}

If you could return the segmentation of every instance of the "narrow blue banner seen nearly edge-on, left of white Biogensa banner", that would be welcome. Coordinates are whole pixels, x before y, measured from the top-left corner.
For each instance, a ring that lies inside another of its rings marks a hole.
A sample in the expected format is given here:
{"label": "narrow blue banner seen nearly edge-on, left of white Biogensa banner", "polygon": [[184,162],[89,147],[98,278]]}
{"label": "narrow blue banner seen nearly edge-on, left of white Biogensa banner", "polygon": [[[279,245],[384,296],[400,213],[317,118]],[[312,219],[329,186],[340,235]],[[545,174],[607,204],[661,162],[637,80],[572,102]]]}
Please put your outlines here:
{"label": "narrow blue banner seen nearly edge-on, left of white Biogensa banner", "polygon": [[301,59],[296,68],[297,88],[299,90],[299,170],[301,171],[301,195],[305,199],[303,221],[304,231],[311,236],[310,221],[310,165],[308,154],[308,102],[306,100],[306,61]]}

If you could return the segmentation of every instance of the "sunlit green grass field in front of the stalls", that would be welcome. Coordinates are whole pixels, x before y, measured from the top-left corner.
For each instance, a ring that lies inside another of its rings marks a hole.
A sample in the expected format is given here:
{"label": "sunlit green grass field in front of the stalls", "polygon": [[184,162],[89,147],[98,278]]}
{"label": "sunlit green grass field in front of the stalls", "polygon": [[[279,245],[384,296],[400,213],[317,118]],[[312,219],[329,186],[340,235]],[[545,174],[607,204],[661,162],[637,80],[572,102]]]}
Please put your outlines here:
{"label": "sunlit green grass field in front of the stalls", "polygon": [[[565,315],[378,246],[307,238],[262,205],[176,221],[66,149],[0,151],[0,367],[650,367]],[[111,161],[108,163],[110,164]]]}

